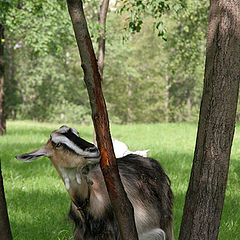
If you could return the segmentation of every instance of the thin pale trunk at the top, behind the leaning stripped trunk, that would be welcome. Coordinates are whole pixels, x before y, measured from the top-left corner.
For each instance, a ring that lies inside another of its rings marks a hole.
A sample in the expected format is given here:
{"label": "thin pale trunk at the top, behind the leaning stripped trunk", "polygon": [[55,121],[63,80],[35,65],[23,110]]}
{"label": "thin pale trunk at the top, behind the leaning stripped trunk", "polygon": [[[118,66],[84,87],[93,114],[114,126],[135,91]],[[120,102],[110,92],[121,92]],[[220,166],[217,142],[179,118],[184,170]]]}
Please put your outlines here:
{"label": "thin pale trunk at the top, behind the leaning stripped trunk", "polygon": [[105,38],[106,38],[106,19],[107,11],[109,6],[109,0],[103,0],[100,7],[100,13],[98,16],[98,22],[101,26],[100,39],[98,43],[98,68],[103,78],[103,68],[104,68],[104,56],[105,56]]}

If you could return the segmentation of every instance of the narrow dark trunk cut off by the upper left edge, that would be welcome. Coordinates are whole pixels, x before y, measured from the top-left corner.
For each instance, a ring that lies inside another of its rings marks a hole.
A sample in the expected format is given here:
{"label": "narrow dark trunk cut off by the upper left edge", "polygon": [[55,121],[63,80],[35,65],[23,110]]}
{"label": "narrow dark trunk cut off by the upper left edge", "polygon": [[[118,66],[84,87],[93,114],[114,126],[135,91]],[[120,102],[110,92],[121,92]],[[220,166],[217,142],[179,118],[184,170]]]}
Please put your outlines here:
{"label": "narrow dark trunk cut off by the upper left edge", "polygon": [[4,26],[0,23],[0,135],[6,134],[6,119],[4,115]]}

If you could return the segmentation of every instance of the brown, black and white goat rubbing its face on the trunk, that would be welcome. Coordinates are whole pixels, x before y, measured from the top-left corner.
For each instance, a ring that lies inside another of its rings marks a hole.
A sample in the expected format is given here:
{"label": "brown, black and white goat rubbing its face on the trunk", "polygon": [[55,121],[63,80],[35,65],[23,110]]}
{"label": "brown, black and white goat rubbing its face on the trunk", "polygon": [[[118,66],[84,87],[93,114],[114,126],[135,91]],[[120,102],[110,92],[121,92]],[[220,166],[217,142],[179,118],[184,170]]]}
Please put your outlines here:
{"label": "brown, black and white goat rubbing its face on the trunk", "polygon": [[[72,202],[69,216],[75,223],[75,240],[120,240],[104,178],[100,153],[80,138],[74,128],[62,126],[46,145],[16,158],[30,162],[40,157],[52,161]],[[134,208],[140,240],[174,240],[173,193],[160,164],[151,158],[130,154],[117,159],[119,173]]]}

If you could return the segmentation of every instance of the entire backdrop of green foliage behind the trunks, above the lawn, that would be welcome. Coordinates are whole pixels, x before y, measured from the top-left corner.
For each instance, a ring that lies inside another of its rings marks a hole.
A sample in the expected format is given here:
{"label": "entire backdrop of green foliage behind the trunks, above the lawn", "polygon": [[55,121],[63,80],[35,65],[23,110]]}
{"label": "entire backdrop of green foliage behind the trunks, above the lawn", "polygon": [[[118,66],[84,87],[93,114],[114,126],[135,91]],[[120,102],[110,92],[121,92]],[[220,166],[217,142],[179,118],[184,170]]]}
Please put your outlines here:
{"label": "entire backdrop of green foliage behind the trunks, above the lawn", "polygon": [[[197,120],[207,5],[196,0],[124,1],[121,15],[110,7],[103,86],[113,122]],[[84,10],[96,46],[102,27],[96,24],[99,2],[86,0]],[[136,34],[126,31],[130,20],[135,21]],[[5,23],[8,118],[89,121],[65,1],[13,1]],[[167,42],[158,37],[166,28]]]}

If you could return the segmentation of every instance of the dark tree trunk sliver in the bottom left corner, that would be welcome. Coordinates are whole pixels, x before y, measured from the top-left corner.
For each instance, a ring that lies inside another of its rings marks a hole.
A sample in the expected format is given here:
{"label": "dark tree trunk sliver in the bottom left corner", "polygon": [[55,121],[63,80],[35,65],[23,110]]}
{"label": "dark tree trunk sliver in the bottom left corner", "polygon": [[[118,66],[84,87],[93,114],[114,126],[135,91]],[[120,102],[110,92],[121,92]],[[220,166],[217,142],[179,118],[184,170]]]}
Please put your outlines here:
{"label": "dark tree trunk sliver in the bottom left corner", "polygon": [[3,178],[0,160],[0,236],[4,240],[12,240],[12,233],[7,213],[7,204],[4,195]]}

